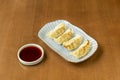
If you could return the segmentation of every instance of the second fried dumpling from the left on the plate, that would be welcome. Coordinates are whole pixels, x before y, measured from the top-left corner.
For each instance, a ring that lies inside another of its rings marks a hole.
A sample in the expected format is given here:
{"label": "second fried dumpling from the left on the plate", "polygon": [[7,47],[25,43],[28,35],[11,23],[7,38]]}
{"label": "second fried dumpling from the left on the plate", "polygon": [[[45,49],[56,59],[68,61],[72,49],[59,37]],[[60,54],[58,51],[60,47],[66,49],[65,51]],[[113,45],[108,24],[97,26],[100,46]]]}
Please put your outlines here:
{"label": "second fried dumpling from the left on the plate", "polygon": [[72,35],[73,35],[72,29],[69,28],[61,36],[59,36],[57,39],[54,39],[54,40],[58,44],[62,44],[63,42],[68,41],[69,39],[71,39]]}

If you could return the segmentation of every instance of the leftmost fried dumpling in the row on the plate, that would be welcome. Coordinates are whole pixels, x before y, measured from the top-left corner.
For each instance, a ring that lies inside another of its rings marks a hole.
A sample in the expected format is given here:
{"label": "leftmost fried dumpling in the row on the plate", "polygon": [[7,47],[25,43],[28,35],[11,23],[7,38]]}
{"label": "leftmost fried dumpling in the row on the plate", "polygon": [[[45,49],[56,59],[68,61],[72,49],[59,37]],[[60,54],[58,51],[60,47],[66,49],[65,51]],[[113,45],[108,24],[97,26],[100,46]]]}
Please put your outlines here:
{"label": "leftmost fried dumpling in the row on the plate", "polygon": [[66,30],[66,26],[64,23],[60,23],[58,24],[55,29],[53,29],[52,31],[50,31],[47,36],[49,38],[55,39],[58,38],[61,34],[63,34]]}

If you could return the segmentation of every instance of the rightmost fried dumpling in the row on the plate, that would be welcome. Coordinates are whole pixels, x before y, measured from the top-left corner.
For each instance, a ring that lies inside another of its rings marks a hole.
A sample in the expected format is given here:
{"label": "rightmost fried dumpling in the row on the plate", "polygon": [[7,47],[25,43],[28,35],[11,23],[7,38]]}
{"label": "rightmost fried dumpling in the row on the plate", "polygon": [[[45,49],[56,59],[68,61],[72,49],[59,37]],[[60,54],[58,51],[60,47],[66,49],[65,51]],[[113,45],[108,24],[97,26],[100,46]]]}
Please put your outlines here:
{"label": "rightmost fried dumpling in the row on the plate", "polygon": [[91,48],[91,43],[89,40],[85,40],[83,42],[83,44],[81,44],[81,46],[76,49],[75,51],[71,52],[71,55],[75,56],[76,58],[81,58],[84,55],[86,55],[88,53],[88,51]]}

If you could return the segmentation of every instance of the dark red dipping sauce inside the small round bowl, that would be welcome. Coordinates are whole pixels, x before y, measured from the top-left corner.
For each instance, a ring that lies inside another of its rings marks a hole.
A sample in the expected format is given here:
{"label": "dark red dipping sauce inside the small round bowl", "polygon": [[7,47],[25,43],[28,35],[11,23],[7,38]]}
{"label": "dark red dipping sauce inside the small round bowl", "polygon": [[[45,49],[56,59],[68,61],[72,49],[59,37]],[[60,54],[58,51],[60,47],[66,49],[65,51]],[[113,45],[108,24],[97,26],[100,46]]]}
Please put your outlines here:
{"label": "dark red dipping sauce inside the small round bowl", "polygon": [[20,52],[20,58],[27,62],[35,61],[40,58],[41,55],[42,51],[34,46],[26,47]]}

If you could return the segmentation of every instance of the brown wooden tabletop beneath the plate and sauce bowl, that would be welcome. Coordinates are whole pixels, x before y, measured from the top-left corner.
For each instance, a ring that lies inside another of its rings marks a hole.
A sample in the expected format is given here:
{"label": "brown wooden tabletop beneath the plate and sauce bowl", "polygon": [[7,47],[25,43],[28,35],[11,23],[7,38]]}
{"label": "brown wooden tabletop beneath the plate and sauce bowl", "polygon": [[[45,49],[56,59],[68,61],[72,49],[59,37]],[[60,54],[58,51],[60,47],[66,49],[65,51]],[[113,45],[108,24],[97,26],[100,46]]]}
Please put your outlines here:
{"label": "brown wooden tabletop beneath the plate and sauce bowl", "polygon": [[[65,61],[38,38],[48,22],[64,19],[97,40],[88,60]],[[0,0],[0,80],[120,80],[120,0]],[[18,49],[36,43],[45,58],[35,66],[17,59]]]}

